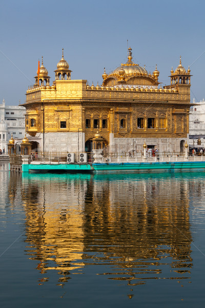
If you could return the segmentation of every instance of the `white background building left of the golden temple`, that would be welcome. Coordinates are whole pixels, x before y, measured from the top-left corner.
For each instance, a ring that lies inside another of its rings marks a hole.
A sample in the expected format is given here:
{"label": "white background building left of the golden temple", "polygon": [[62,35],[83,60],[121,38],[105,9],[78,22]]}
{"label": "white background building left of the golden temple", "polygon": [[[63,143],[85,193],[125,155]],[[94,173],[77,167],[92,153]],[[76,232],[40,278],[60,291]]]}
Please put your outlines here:
{"label": "white background building left of the golden temple", "polygon": [[[23,106],[6,106],[5,100],[0,104],[0,149],[8,152],[7,144],[13,134],[15,144],[20,143],[25,136],[25,113]],[[19,142],[18,142],[19,139]],[[16,148],[19,152],[19,147]]]}

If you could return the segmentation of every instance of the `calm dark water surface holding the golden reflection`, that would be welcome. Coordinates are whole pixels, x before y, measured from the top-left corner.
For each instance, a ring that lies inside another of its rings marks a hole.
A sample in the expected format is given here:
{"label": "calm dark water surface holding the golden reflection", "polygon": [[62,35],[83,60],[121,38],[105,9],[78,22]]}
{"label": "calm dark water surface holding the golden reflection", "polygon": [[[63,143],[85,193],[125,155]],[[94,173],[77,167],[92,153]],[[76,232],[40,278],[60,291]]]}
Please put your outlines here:
{"label": "calm dark water surface holding the golden reflection", "polygon": [[201,307],[205,172],[37,175],[0,163],[1,307]]}

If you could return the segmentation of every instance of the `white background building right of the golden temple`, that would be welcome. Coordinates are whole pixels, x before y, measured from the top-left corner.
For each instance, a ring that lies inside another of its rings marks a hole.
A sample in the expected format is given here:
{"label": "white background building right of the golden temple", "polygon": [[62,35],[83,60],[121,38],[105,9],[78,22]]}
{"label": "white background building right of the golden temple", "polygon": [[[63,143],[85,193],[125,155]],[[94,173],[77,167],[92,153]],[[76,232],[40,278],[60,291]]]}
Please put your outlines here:
{"label": "white background building right of the golden temple", "polygon": [[197,146],[197,140],[201,140],[201,147],[205,146],[205,101],[195,102],[190,108],[189,115],[189,145]]}

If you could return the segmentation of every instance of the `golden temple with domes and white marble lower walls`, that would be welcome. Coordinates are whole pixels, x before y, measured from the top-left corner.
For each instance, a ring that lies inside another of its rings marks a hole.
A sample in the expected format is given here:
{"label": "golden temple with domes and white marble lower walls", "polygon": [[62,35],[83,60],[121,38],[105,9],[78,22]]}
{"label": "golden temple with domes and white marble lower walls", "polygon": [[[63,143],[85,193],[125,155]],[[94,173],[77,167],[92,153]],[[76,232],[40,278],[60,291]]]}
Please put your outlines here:
{"label": "golden temple with domes and white marble lower walls", "polygon": [[190,68],[180,62],[162,87],[159,71],[148,72],[128,61],[102,85],[72,80],[68,62],[57,63],[55,80],[42,65],[35,84],[26,92],[26,132],[36,151],[83,152],[92,150],[97,130],[110,152],[141,151],[143,144],[159,151],[183,151],[189,133]]}

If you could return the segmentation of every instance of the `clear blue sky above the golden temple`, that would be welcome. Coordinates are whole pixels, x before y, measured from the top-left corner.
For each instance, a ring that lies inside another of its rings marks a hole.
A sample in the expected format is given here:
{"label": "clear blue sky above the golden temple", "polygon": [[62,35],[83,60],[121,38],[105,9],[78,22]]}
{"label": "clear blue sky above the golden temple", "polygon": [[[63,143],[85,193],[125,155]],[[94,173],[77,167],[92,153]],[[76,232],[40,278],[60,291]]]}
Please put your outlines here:
{"label": "clear blue sky above the golden temple", "polygon": [[0,102],[18,105],[34,83],[38,59],[51,82],[61,49],[72,79],[102,83],[101,75],[127,60],[127,40],[133,61],[170,84],[181,55],[190,65],[191,101],[205,99],[205,2],[203,1],[28,1],[0,2]]}

